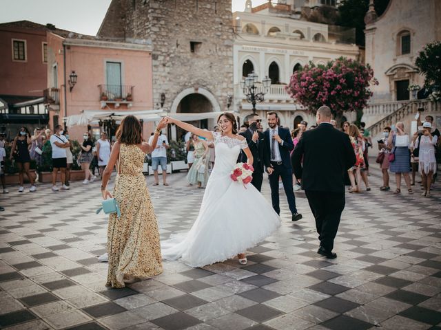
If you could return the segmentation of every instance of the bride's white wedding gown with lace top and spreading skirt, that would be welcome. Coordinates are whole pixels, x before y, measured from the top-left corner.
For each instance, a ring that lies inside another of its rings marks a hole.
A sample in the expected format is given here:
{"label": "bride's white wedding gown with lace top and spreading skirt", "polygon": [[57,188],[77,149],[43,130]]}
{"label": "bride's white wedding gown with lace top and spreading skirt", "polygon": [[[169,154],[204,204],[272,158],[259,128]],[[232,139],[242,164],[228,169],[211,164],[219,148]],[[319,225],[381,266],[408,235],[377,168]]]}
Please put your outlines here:
{"label": "bride's white wedding gown with lace top and spreading skirt", "polygon": [[230,259],[265,240],[280,225],[280,217],[252,184],[233,181],[246,140],[213,133],[216,162],[205,188],[198,218],[186,234],[161,242],[163,259],[181,259],[202,267]]}

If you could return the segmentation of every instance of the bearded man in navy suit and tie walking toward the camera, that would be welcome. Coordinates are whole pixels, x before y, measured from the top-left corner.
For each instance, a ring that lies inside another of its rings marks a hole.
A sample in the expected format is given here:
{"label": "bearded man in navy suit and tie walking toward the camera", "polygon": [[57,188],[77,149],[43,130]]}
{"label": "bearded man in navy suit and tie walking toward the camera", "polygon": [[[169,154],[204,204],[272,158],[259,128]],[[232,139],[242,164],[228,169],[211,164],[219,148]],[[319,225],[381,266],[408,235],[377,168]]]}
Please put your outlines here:
{"label": "bearded man in navy suit and tie walking toward the camera", "polygon": [[292,214],[291,219],[292,221],[298,221],[302,219],[302,214],[297,212],[296,197],[292,186],[292,166],[289,153],[294,149],[294,143],[291,139],[291,133],[289,133],[289,129],[278,126],[278,115],[274,111],[267,113],[267,122],[269,129],[265,131],[265,157],[267,157],[265,164],[271,164],[267,167],[267,173],[269,174],[273,208],[277,214],[280,214],[278,179],[281,177],[289,210]]}

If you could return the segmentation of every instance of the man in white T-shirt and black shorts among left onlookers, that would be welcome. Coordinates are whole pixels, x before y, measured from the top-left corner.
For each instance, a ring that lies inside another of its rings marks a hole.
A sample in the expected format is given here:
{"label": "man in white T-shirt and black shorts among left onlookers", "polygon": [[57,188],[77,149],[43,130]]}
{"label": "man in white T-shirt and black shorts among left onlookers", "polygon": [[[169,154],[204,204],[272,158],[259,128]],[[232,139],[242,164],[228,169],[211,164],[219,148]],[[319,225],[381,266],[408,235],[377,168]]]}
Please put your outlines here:
{"label": "man in white T-shirt and black shorts among left onlookers", "polygon": [[60,170],[61,174],[61,189],[68,190],[69,187],[65,185],[66,167],[68,166],[65,148],[70,147],[70,142],[63,135],[63,126],[55,126],[54,132],[55,133],[50,137],[50,145],[52,146],[52,166],[54,167],[54,170],[52,171],[52,190],[59,190],[57,187],[58,170]]}

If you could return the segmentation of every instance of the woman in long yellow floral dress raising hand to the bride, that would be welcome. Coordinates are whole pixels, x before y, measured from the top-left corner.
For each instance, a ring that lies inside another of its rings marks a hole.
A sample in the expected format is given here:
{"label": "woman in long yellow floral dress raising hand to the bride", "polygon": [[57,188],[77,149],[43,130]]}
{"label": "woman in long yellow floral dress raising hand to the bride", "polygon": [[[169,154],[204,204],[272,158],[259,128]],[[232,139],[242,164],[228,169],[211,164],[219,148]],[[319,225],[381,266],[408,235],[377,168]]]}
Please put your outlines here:
{"label": "woman in long yellow floral dress raising hand to the bride", "polygon": [[[167,124],[161,120],[154,133],[152,146]],[[114,197],[119,203],[121,217],[111,214],[107,228],[109,271],[107,286],[125,287],[136,279],[152,277],[163,272],[158,223],[145,184],[143,164],[146,153],[153,147],[142,141],[142,127],[136,117],[127,115],[116,132],[117,142],[103,172],[103,199],[112,198],[106,189],[110,174],[118,162]]]}

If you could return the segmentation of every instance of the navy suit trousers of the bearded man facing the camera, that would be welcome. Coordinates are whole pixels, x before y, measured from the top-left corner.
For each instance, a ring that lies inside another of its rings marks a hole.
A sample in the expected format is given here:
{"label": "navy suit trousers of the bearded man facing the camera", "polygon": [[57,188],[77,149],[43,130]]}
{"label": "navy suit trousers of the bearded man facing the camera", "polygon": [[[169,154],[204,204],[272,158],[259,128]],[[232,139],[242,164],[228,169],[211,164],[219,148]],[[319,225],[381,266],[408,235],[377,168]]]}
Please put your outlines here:
{"label": "navy suit trousers of the bearded man facing the camera", "polygon": [[276,162],[271,162],[274,172],[269,177],[269,186],[271,187],[271,202],[277,214],[280,214],[279,197],[278,197],[278,178],[282,178],[283,189],[287,195],[289,210],[292,214],[297,213],[296,197],[292,188],[292,169],[286,168],[283,165],[278,165]]}

